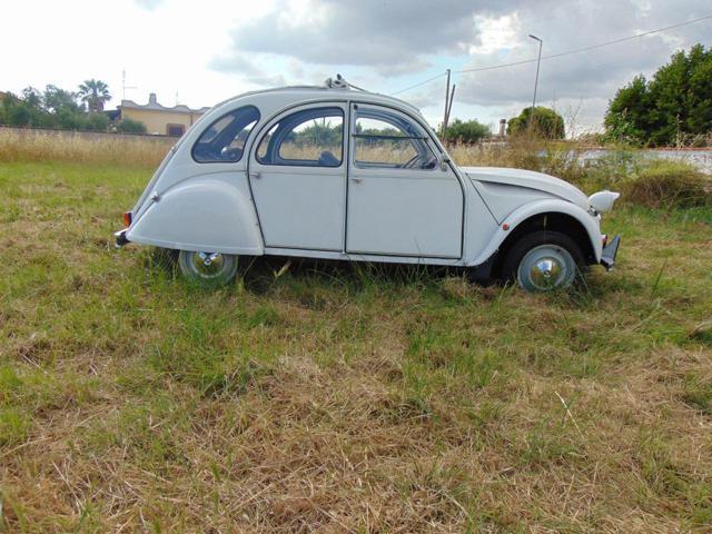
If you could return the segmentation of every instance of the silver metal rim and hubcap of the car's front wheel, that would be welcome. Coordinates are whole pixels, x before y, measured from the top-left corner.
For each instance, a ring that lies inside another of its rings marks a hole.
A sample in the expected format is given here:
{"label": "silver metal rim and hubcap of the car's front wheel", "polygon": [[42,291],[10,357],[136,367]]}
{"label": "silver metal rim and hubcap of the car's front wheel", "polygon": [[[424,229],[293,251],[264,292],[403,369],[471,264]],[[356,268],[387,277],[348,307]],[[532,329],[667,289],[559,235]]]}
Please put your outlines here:
{"label": "silver metal rim and hubcap of the car's front wheel", "polygon": [[567,250],[553,245],[542,245],[522,258],[517,279],[524,289],[548,291],[570,285],[575,273],[576,265]]}

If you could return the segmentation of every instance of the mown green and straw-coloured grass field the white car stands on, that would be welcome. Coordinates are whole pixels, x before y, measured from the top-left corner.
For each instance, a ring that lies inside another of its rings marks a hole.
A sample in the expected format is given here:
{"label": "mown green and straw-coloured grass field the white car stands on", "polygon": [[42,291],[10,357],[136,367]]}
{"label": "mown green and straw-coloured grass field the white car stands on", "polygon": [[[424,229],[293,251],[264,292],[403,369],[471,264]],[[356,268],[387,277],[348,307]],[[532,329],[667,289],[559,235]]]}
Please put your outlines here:
{"label": "mown green and straw-coloured grass field the white car stands on", "polygon": [[710,207],[621,205],[567,294],[278,259],[211,291],[112,248],[142,158],[0,162],[0,530],[710,531]]}

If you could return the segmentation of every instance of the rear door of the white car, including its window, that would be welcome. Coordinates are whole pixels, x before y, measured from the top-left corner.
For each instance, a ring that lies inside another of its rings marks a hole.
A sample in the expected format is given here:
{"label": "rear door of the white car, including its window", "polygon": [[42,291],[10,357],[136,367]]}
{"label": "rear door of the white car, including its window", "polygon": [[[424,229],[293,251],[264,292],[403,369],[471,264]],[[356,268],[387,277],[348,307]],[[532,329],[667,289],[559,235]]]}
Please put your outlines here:
{"label": "rear door of the white car, including its window", "polygon": [[344,249],[346,103],[293,108],[260,131],[249,181],[266,247]]}

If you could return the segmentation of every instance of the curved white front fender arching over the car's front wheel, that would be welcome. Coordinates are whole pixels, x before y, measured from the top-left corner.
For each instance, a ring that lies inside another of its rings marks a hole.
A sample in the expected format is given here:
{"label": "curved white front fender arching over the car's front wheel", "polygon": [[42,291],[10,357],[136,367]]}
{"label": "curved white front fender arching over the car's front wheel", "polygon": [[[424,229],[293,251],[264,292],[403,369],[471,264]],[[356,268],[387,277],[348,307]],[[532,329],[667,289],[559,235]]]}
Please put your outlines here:
{"label": "curved white front fender arching over the car's front wheel", "polygon": [[532,217],[543,214],[564,214],[581,222],[581,226],[586,230],[586,235],[591,240],[591,247],[596,263],[601,261],[603,244],[601,241],[601,222],[599,218],[570,201],[547,198],[520,206],[507,215],[495,231],[494,236],[490,239],[490,243],[487,243],[482,253],[479,253],[479,255],[469,263],[469,265],[481,265],[485,263],[500,249],[504,240],[516,229],[517,226]]}

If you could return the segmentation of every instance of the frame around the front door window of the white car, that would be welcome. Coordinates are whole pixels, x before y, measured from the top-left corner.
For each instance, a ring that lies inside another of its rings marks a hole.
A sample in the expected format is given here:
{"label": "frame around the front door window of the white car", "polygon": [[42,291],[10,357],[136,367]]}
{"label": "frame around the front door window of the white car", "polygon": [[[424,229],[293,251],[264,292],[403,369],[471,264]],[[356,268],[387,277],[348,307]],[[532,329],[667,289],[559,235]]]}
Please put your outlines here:
{"label": "frame around the front door window of the white car", "polygon": [[[382,117],[378,117],[378,115],[380,115]],[[389,120],[383,118],[383,116],[386,116],[386,117],[390,116],[390,117],[394,117],[395,119],[398,119],[399,121],[407,123],[411,127],[409,129],[416,131],[418,135],[411,134],[411,135],[403,135],[403,136],[389,136],[389,135],[358,134],[356,131],[358,119],[363,118],[363,119],[378,120],[385,125],[388,125],[395,129],[398,129],[399,131],[403,131],[404,134],[408,134],[405,128],[398,126],[397,123],[390,122]],[[433,139],[429,137],[428,130],[421,123],[421,121],[418,121],[411,115],[403,112],[399,109],[395,109],[395,108],[383,106],[375,102],[352,102],[350,129],[352,129],[350,137],[353,140],[349,147],[350,148],[349,160],[350,160],[350,165],[355,169],[386,170],[386,171],[389,171],[389,170],[404,171],[405,170],[409,172],[417,172],[417,171],[429,172],[437,169],[438,167],[436,161],[441,158],[439,156],[441,152],[439,150],[437,150],[437,147],[434,146]],[[383,140],[393,140],[393,141],[409,140],[412,141],[412,146],[414,151],[416,152],[416,156],[421,155],[421,150],[418,150],[417,144],[416,144],[417,141],[419,141],[422,142],[422,147],[424,149],[423,151],[425,150],[429,151],[429,154],[435,160],[435,165],[433,165],[432,167],[424,168],[424,167],[402,167],[400,166],[400,165],[407,164],[408,161],[405,161],[404,164],[388,164],[387,161],[375,161],[375,162],[358,161],[358,159],[356,159],[356,152],[357,152],[356,144],[358,139],[383,139]]]}

